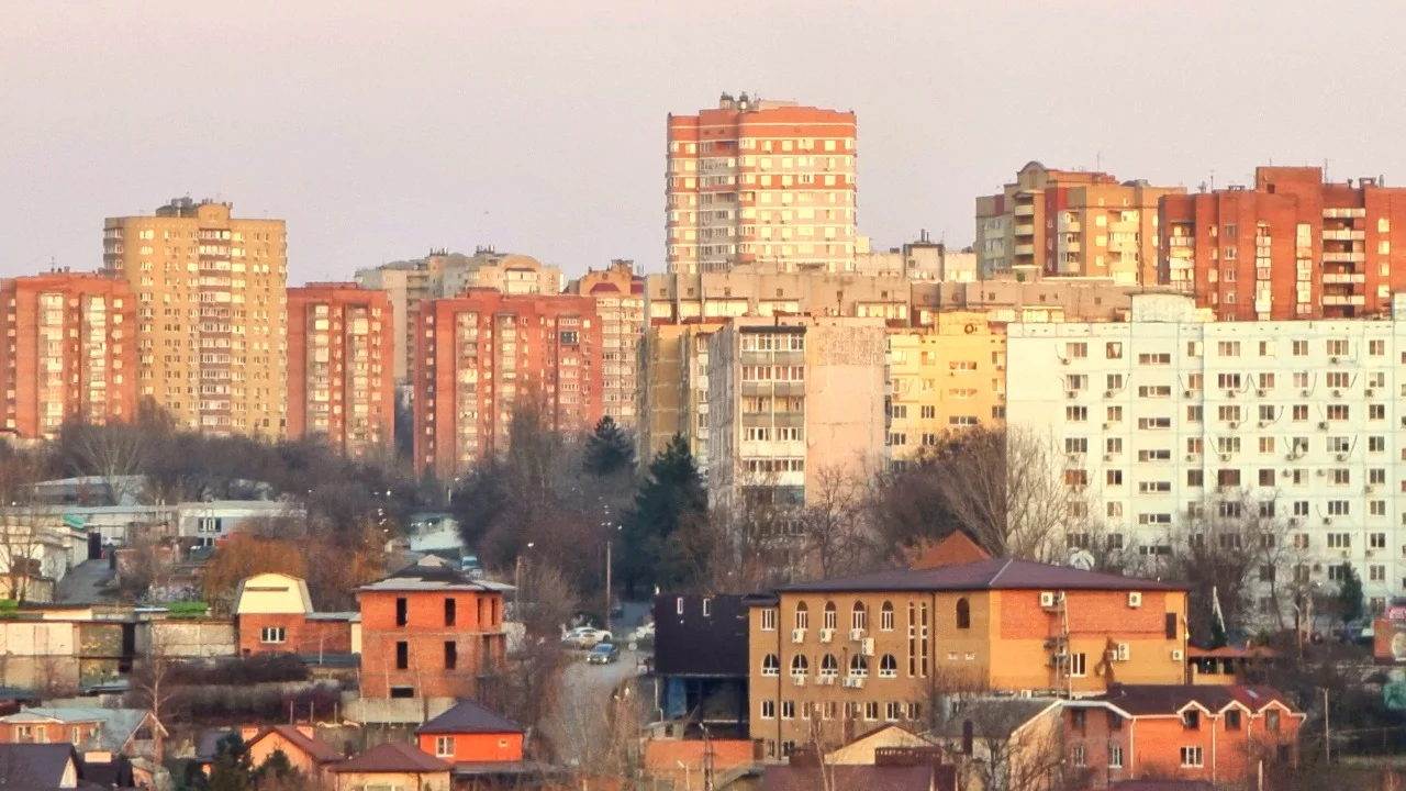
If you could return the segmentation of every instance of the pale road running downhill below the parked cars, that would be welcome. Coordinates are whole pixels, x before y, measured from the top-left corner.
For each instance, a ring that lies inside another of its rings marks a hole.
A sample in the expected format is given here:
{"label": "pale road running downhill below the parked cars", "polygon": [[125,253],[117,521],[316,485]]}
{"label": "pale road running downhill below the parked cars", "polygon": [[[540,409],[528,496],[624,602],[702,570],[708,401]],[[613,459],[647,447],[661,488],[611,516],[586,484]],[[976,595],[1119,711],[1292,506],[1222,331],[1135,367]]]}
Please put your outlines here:
{"label": "pale road running downhill below the parked cars", "polygon": [[591,766],[609,752],[610,712],[617,705],[614,695],[621,681],[643,671],[640,660],[648,656],[628,650],[626,639],[648,611],[645,604],[626,604],[624,618],[612,624],[612,631],[621,640],[620,662],[586,664],[582,654],[561,674],[557,711],[543,723],[543,730],[557,747],[560,763]]}

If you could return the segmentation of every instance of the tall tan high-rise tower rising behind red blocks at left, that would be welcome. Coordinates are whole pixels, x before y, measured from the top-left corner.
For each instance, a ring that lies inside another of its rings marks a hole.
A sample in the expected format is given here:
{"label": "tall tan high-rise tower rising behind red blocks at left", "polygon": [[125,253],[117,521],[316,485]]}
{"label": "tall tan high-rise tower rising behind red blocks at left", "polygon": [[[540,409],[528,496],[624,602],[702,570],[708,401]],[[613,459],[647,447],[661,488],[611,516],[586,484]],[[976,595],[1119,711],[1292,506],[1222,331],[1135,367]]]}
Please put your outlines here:
{"label": "tall tan high-rise tower rising behind red blocks at left", "polygon": [[287,422],[288,245],[283,220],[176,198],[110,217],[103,266],[136,298],[138,397],[177,425],[280,438]]}

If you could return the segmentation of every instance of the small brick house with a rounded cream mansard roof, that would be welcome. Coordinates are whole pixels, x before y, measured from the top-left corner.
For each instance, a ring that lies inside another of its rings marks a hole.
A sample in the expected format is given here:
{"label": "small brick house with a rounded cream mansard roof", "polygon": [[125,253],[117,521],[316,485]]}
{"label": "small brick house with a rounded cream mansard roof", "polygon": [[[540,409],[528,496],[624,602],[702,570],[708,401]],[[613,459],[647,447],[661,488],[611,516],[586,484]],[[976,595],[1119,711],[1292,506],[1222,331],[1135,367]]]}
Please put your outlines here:
{"label": "small brick house with a rounded cream mansard roof", "polygon": [[235,632],[239,654],[359,653],[360,624],[356,612],[318,612],[308,583],[288,574],[254,574],[235,591]]}

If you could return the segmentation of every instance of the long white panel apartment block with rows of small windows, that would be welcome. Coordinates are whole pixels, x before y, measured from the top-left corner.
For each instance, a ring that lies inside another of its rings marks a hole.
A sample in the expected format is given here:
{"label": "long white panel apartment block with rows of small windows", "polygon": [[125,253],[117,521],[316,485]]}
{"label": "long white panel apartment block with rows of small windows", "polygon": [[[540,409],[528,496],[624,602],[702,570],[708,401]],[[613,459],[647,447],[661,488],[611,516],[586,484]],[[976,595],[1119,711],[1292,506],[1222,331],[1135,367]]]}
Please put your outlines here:
{"label": "long white panel apartment block with rows of small windows", "polygon": [[1071,490],[1125,552],[1156,560],[1174,542],[1243,540],[1226,533],[1244,525],[1281,548],[1265,612],[1344,563],[1381,607],[1406,590],[1398,300],[1391,321],[1201,321],[1191,297],[1139,296],[1123,324],[1012,324],[1024,384],[1007,422],[1060,446]]}

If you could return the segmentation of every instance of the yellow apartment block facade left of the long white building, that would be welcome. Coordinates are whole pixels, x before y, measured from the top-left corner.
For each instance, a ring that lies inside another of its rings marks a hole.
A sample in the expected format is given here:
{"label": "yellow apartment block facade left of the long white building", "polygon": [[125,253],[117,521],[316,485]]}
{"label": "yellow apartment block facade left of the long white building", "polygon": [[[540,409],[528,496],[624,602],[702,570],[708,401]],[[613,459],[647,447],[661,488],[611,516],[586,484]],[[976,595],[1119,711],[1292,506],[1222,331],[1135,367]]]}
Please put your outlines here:
{"label": "yellow apartment block facade left of the long white building", "polygon": [[889,459],[907,462],[945,432],[1005,418],[1005,328],[942,312],[931,328],[889,328]]}

